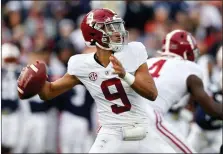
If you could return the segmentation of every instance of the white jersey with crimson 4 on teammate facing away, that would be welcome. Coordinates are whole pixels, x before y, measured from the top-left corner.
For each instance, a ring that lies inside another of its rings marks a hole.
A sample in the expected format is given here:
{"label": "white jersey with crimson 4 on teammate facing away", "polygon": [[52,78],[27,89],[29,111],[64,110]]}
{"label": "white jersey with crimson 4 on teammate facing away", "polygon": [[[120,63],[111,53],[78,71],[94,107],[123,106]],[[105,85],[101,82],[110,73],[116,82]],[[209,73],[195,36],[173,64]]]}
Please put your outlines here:
{"label": "white jersey with crimson 4 on teammate facing away", "polygon": [[189,94],[186,82],[190,75],[203,79],[200,67],[188,60],[155,57],[148,59],[147,65],[158,90],[157,99],[150,104],[162,113]]}

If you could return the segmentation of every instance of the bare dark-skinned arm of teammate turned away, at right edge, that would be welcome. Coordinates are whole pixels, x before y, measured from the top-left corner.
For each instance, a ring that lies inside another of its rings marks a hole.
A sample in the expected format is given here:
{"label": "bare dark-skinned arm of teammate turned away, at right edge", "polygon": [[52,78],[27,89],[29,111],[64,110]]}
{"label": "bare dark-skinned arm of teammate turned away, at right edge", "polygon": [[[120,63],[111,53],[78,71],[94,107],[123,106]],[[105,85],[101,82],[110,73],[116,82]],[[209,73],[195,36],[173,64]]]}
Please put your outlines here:
{"label": "bare dark-skinned arm of teammate turned away, at right edge", "polygon": [[206,113],[213,117],[223,119],[222,104],[212,101],[208,94],[204,91],[202,80],[196,75],[190,75],[187,78],[187,86],[193,98],[198,102]]}

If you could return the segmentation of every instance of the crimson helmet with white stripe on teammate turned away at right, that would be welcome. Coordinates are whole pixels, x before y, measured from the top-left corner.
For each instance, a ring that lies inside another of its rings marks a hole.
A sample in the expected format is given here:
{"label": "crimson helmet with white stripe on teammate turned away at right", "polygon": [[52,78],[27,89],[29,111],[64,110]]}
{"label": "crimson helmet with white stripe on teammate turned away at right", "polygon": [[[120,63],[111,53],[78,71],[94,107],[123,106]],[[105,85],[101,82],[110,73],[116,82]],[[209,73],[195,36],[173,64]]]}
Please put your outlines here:
{"label": "crimson helmet with white stripe on teammate turned away at right", "polygon": [[174,30],[163,40],[162,55],[180,56],[195,61],[199,55],[195,38],[187,31]]}

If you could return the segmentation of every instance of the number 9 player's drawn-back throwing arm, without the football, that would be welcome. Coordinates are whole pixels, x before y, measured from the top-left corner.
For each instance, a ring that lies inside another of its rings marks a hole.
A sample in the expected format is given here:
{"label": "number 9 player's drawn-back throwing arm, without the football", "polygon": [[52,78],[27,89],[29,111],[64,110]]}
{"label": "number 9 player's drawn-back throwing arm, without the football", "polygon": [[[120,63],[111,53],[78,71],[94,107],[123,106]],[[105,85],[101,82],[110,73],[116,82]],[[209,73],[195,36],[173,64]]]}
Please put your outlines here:
{"label": "number 9 player's drawn-back throwing arm, without the football", "polygon": [[46,81],[39,93],[39,96],[42,100],[49,100],[66,92],[67,90],[80,83],[81,82],[78,80],[77,77],[66,73],[62,78],[54,82]]}

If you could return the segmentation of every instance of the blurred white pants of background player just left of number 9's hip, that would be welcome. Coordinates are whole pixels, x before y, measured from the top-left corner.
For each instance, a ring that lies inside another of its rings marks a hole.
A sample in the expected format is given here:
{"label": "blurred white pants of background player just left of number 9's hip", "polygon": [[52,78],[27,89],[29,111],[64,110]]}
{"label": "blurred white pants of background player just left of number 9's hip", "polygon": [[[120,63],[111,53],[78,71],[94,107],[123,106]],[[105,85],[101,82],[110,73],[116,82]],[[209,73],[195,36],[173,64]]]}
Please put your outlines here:
{"label": "blurred white pants of background player just left of number 9's hip", "polygon": [[60,149],[61,153],[86,153],[89,149],[87,119],[63,111],[60,119]]}

